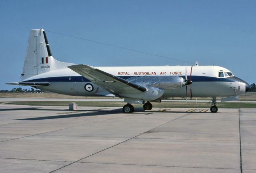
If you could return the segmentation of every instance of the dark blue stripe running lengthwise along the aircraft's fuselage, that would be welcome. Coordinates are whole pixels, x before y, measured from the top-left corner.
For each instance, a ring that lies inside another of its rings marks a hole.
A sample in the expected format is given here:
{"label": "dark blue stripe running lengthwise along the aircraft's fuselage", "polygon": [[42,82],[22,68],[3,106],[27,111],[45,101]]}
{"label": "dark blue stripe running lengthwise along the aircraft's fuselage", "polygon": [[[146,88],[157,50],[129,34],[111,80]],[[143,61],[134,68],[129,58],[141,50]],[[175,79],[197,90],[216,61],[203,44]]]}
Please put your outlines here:
{"label": "dark blue stripe running lengthwise along the aircraft's fuselage", "polygon": [[[122,79],[129,79],[135,76],[118,76]],[[153,76],[152,76],[153,77]],[[185,76],[179,76],[185,78]],[[237,82],[239,78],[228,77],[228,78],[218,78],[218,77],[207,77],[207,76],[188,76],[188,79],[192,82]],[[46,77],[40,79],[32,79],[22,82],[90,82],[88,79],[82,76],[72,76],[72,77]]]}

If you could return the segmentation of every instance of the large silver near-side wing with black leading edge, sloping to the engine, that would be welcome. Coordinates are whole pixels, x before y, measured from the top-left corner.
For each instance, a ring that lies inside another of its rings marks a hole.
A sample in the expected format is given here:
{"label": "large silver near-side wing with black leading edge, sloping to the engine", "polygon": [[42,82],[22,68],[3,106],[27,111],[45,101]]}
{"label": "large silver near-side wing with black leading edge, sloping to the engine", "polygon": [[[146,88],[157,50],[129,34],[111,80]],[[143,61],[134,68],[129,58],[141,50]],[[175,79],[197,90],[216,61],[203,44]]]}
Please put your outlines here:
{"label": "large silver near-side wing with black leading edge, sloping to the engine", "polygon": [[89,79],[91,82],[117,96],[119,95],[119,93],[140,93],[147,90],[147,88],[143,86],[140,86],[136,83],[131,83],[125,79],[111,75],[109,73],[106,73],[105,71],[96,69],[89,65],[71,65],[68,66],[68,68],[72,69],[76,73],[82,75],[86,79]]}

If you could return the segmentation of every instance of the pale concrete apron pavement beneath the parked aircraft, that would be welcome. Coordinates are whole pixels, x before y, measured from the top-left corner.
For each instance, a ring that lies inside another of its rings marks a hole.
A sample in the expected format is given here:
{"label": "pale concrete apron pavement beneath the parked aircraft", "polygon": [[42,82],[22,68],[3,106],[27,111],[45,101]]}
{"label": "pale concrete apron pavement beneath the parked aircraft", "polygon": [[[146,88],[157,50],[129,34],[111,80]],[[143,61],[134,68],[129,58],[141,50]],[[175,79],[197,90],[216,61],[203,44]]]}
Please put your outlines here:
{"label": "pale concrete apron pavement beneath the parked aircraft", "polygon": [[0,104],[0,172],[256,172],[256,109]]}

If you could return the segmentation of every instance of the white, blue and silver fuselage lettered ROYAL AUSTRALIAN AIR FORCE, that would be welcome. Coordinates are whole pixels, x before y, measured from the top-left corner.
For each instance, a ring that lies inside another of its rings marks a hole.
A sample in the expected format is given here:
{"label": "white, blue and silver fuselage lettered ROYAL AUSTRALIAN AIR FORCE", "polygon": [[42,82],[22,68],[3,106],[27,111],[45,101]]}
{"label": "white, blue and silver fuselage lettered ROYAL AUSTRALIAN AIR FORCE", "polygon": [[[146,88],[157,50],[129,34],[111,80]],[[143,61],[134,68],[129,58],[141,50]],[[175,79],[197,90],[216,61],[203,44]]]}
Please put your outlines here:
{"label": "white, blue and silver fuselage lettered ROYAL AUSTRALIAN AIR FORCE", "polygon": [[[228,69],[218,66],[96,68],[126,80],[129,80],[132,77],[147,77],[147,79],[144,78],[144,82],[148,85],[152,85],[152,83],[156,83],[155,85],[158,85],[158,83],[161,83],[161,79],[164,78],[164,80],[168,80],[168,77],[178,76],[185,78],[187,68],[187,78],[192,81],[192,85],[188,86],[189,97],[234,96],[244,94],[246,92],[246,87],[248,87],[246,86],[247,83],[245,81],[234,77]],[[221,75],[219,77],[219,73],[223,73],[223,76]],[[91,83],[88,79],[82,77],[69,68],[42,73],[26,79],[23,82],[49,82],[50,86],[37,86],[37,88],[60,94],[74,96],[112,96],[106,90],[100,88],[94,83]],[[89,88],[86,89],[86,85],[88,85],[87,87]],[[186,96],[186,87],[177,89],[164,88],[162,98],[172,96]]]}

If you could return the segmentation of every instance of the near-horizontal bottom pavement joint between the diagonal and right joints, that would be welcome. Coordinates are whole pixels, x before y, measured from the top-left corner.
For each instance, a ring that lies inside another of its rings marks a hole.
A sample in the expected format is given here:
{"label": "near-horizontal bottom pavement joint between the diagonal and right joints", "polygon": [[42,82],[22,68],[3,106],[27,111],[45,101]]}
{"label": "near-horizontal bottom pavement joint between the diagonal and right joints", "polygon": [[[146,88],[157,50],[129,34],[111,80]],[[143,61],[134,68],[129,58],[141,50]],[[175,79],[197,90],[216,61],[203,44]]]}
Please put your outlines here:
{"label": "near-horizontal bottom pavement joint between the diagonal and right joints", "polygon": [[136,165],[136,166],[154,166],[154,167],[184,167],[184,168],[199,168],[199,169],[232,169],[232,170],[234,169],[234,170],[238,170],[236,168],[221,168],[221,167],[189,167],[189,166],[144,165],[144,164],[128,164],[128,163],[98,163],[98,162],[83,162],[83,161],[78,161],[77,163],[96,163],[96,164],[110,164],[110,165]]}

